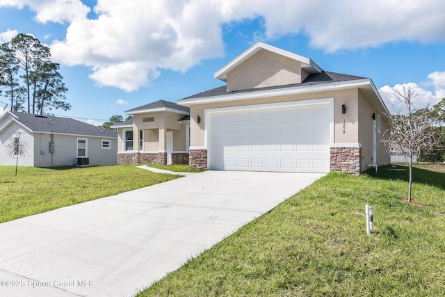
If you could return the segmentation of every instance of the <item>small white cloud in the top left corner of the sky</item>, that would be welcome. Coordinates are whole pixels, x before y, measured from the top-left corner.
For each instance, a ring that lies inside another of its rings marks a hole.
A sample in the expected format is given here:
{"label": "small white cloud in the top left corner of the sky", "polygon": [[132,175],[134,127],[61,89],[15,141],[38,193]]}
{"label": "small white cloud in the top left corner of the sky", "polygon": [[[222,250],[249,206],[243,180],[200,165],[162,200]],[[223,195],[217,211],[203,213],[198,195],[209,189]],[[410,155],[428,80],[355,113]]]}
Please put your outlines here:
{"label": "small white cloud in the top left corner of the sky", "polygon": [[90,8],[80,0],[1,0],[0,7],[22,9],[28,6],[35,11],[35,20],[40,23],[71,22],[74,19],[86,17]]}

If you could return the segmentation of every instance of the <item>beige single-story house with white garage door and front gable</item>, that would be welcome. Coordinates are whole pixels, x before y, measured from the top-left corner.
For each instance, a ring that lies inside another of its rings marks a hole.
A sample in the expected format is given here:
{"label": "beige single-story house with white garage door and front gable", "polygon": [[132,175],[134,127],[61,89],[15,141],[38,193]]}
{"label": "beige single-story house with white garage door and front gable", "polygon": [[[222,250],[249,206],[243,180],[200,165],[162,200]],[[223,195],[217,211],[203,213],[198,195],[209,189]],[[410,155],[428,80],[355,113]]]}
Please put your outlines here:
{"label": "beige single-story house with white garage door and front gable", "polygon": [[169,154],[180,150],[191,167],[209,170],[359,173],[390,163],[381,143],[389,111],[369,78],[326,72],[262,42],[215,77],[225,86],[127,111],[133,122],[114,126],[122,130],[118,156],[131,156],[120,161],[147,161],[144,152],[157,148],[166,156],[155,162],[175,163]]}

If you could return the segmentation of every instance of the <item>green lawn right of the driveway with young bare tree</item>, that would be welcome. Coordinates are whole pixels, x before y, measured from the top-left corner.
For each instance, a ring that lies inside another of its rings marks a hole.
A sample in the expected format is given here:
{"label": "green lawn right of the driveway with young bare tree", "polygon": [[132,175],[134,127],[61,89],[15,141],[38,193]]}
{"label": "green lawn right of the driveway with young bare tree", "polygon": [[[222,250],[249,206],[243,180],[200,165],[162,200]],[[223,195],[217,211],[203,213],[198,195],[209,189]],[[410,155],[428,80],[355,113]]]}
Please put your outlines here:
{"label": "green lawn right of the driveway with young bare tree", "polygon": [[387,169],[331,172],[139,296],[443,296],[445,166],[415,168],[426,207]]}

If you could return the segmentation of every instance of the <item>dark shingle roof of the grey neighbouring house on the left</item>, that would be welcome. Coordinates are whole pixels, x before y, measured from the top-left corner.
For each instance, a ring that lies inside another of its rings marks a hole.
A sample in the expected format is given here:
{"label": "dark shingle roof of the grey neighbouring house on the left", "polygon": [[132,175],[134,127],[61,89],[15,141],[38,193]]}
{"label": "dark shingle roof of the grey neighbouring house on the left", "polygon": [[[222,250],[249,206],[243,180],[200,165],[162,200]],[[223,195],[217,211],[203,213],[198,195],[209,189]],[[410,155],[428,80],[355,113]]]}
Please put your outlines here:
{"label": "dark shingle roof of the grey neighbouring house on the left", "polygon": [[118,133],[94,125],[80,122],[71,118],[60,118],[54,115],[34,115],[33,113],[19,113],[10,111],[17,118],[17,122],[35,132],[58,134],[73,134],[81,136],[118,137]]}

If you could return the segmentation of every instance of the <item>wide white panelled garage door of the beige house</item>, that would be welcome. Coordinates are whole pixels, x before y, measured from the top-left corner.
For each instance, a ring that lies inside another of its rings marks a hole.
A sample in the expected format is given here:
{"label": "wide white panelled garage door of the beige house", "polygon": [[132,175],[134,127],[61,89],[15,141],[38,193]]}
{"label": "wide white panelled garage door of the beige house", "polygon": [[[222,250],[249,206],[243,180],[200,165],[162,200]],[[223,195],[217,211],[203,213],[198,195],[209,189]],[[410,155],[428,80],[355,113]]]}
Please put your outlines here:
{"label": "wide white panelled garage door of the beige house", "polygon": [[209,169],[330,171],[330,104],[209,113]]}

